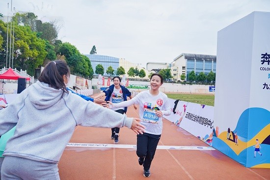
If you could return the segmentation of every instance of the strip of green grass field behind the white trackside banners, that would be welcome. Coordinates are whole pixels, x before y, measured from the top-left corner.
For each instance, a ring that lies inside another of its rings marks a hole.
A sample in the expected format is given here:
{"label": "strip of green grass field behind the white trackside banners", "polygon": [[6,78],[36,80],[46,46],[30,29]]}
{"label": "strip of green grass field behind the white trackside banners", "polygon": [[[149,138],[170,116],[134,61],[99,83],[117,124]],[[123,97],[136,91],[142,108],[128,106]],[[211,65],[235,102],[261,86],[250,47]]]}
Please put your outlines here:
{"label": "strip of green grass field behind the white trackside banners", "polygon": [[193,102],[197,104],[204,104],[214,106],[215,95],[213,94],[181,94],[181,93],[166,93],[168,98],[180,99],[181,101]]}

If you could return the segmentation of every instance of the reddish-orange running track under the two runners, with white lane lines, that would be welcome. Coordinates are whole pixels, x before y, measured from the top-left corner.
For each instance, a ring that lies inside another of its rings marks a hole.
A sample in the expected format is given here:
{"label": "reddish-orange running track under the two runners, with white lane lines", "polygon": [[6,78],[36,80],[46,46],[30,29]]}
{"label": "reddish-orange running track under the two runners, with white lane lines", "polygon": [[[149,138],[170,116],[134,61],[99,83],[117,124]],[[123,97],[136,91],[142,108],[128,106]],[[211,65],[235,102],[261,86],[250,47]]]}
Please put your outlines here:
{"label": "reddish-orange running track under the two runners, with white lane lines", "polygon": [[[138,109],[130,106],[127,116],[138,117]],[[151,176],[145,178],[136,156],[135,132],[121,128],[118,144],[110,135],[110,129],[77,126],[58,163],[60,179],[270,180],[270,169],[245,168],[166,119]]]}

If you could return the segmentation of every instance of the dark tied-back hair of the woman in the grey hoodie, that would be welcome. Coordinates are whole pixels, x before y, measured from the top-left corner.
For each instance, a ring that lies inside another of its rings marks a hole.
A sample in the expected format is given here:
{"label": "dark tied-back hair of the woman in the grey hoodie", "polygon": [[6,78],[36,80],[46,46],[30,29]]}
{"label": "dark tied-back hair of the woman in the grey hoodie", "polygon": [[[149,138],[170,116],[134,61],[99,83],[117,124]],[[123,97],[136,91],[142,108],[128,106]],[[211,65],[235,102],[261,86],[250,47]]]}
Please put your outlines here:
{"label": "dark tied-back hair of the woman in the grey hoodie", "polygon": [[64,75],[68,77],[70,76],[70,70],[67,63],[63,60],[54,60],[46,64],[43,71],[40,73],[38,80],[49,84],[50,87],[56,90],[63,90],[63,94],[61,96],[63,97],[64,92],[68,93],[63,79]]}

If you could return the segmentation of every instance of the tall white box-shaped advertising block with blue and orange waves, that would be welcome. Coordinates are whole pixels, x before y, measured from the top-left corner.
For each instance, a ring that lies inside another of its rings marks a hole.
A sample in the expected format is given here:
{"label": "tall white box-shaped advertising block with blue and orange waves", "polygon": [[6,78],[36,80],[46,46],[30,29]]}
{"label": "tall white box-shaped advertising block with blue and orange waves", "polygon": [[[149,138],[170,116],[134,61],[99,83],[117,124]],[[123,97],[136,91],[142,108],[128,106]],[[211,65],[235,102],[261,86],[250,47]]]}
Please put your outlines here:
{"label": "tall white box-shaped advertising block with blue and orange waves", "polygon": [[212,147],[252,168],[270,168],[269,19],[252,12],[217,33]]}

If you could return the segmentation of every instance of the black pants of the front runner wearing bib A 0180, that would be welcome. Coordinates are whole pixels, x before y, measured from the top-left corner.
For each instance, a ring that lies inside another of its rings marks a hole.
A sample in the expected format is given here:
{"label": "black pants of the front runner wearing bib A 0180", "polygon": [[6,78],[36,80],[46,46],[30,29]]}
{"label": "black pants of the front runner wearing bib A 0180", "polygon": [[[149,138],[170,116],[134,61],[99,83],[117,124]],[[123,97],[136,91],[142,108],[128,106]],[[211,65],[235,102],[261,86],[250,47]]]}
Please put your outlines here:
{"label": "black pants of the front runner wearing bib A 0180", "polygon": [[145,157],[144,162],[143,162],[144,170],[150,169],[160,138],[161,138],[161,135],[148,134],[148,133],[137,135],[136,153],[138,157],[141,157],[141,158]]}

